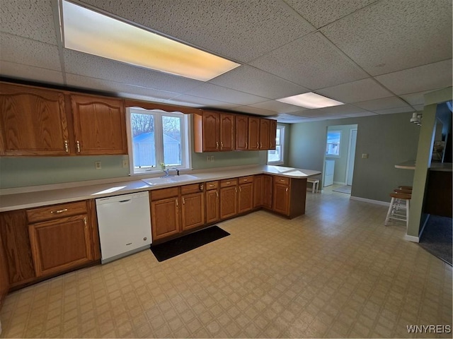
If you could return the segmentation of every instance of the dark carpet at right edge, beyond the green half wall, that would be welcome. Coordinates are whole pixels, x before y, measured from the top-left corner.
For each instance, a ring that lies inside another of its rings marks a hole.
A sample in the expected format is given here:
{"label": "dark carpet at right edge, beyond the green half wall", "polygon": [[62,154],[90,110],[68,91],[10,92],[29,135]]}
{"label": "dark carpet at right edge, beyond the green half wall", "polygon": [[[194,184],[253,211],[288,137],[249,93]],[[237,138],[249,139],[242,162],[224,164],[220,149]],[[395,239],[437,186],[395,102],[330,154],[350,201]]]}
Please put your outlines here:
{"label": "dark carpet at right edge, beyond the green half wall", "polygon": [[452,218],[430,215],[418,244],[452,265],[452,228]]}

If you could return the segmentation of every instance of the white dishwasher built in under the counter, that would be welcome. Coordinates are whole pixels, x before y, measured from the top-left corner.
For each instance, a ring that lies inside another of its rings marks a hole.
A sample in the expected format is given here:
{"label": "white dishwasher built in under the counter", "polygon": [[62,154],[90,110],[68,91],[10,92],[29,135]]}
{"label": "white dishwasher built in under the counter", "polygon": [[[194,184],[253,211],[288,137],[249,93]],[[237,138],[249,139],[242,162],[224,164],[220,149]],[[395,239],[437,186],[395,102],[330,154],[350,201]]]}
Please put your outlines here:
{"label": "white dishwasher built in under the counter", "polygon": [[148,192],[96,199],[101,263],[149,249],[151,215]]}

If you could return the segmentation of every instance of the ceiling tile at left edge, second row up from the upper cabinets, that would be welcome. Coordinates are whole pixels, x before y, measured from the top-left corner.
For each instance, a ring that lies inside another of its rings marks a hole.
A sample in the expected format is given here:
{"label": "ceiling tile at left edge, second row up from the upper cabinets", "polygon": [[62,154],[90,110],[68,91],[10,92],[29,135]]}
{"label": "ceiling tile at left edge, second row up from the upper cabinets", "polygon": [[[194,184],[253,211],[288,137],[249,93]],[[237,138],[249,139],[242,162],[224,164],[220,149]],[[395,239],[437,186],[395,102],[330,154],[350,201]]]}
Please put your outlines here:
{"label": "ceiling tile at left edge, second row up from the upper cabinets", "polygon": [[61,71],[58,47],[17,35],[0,33],[0,59],[16,64]]}

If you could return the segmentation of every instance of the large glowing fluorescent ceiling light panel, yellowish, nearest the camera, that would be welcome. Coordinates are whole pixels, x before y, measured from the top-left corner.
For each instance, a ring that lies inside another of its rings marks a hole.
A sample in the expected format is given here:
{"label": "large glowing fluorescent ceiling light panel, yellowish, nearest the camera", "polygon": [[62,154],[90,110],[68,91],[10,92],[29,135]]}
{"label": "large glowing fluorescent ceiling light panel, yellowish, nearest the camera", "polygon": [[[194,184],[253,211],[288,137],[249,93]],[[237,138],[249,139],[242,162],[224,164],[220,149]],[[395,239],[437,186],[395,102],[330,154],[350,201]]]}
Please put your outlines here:
{"label": "large glowing fluorescent ceiling light panel, yellowish, nearest the camera", "polygon": [[63,1],[64,47],[208,81],[240,66],[186,44]]}

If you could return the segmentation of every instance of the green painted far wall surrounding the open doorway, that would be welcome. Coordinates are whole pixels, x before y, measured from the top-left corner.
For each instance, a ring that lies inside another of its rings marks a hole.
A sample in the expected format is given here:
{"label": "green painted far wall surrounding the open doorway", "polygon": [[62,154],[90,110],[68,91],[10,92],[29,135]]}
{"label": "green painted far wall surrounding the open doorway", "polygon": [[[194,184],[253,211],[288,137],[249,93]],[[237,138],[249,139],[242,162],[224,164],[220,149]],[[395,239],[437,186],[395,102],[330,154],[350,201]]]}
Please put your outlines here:
{"label": "green painted far wall surrounding the open doorway", "polygon": [[[323,171],[328,126],[357,124],[352,196],[389,202],[396,186],[413,182],[412,170],[394,167],[417,155],[420,127],[409,122],[411,116],[386,114],[293,124],[288,165]],[[362,153],[368,158],[362,159]]]}

